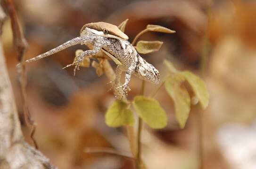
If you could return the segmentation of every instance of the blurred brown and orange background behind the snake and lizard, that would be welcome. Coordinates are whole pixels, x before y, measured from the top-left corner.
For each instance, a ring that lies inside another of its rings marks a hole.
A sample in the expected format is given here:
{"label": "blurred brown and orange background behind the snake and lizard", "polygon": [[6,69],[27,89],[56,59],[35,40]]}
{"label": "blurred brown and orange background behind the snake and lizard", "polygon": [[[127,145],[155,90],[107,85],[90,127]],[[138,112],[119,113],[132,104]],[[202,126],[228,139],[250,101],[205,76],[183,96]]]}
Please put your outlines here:
{"label": "blurred brown and orange background behind the snake and lizard", "polygon": [[[119,25],[129,19],[130,41],[147,24],[175,30],[149,32],[140,39],[161,40],[159,52],[142,55],[159,69],[163,60],[180,70],[203,76],[210,92],[206,110],[194,106],[184,129],[175,120],[173,101],[162,88],[156,99],[165,108],[168,125],[152,130],[144,125],[142,159],[149,169],[198,169],[202,130],[204,169],[256,169],[256,1],[255,0],[16,0],[18,16],[28,40],[25,58],[44,53],[79,36],[85,23],[104,21]],[[26,140],[18,90],[16,51],[10,21],[2,35],[8,72],[15,92]],[[206,45],[207,44],[207,45]],[[204,47],[207,46],[207,47]],[[115,100],[105,76],[95,69],[62,69],[74,60],[73,46],[27,66],[27,95],[37,123],[39,149],[59,169],[132,169],[130,159],[85,149],[112,148],[129,154],[124,128],[109,128],[104,115]],[[114,62],[111,64],[116,67]],[[141,80],[132,77],[129,98],[140,93]],[[156,89],[146,84],[146,93]],[[202,125],[200,124],[201,118]],[[201,128],[200,128],[201,126]]]}

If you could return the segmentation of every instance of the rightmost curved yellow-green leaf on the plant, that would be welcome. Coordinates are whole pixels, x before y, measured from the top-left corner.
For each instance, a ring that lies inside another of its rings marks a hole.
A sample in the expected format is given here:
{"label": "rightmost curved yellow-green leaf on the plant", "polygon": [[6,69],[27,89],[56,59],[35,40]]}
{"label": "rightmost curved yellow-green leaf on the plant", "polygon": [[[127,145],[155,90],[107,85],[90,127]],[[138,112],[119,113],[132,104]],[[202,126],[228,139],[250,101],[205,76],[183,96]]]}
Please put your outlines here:
{"label": "rightmost curved yellow-green leaf on the plant", "polygon": [[189,82],[193,92],[199,100],[199,103],[201,104],[202,108],[205,109],[209,104],[209,93],[204,81],[189,71],[183,71],[180,72],[180,74]]}

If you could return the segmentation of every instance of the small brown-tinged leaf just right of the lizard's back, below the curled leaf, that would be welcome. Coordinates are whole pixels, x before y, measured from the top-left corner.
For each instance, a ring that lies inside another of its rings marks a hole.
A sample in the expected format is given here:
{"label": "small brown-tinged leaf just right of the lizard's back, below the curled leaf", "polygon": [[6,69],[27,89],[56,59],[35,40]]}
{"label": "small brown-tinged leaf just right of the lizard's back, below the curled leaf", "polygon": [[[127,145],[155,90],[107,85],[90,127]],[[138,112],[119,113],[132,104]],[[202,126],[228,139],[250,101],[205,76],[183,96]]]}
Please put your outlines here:
{"label": "small brown-tinged leaf just right of the lizard's back, below the curled leaf", "polygon": [[163,42],[161,41],[143,41],[140,40],[135,46],[136,50],[140,54],[148,54],[151,52],[156,52],[160,49]]}

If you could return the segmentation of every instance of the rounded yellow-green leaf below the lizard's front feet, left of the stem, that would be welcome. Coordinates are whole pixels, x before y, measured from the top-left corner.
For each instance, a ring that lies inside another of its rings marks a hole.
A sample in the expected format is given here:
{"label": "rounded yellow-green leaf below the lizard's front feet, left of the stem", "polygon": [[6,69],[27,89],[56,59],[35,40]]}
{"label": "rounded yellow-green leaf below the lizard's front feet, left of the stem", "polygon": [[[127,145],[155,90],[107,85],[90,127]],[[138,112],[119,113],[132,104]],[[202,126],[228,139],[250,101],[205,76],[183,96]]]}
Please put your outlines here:
{"label": "rounded yellow-green leaf below the lizard's front feet, left of the stem", "polygon": [[108,108],[105,121],[109,127],[133,125],[135,122],[132,111],[128,109],[128,104],[120,100],[116,100],[112,106]]}

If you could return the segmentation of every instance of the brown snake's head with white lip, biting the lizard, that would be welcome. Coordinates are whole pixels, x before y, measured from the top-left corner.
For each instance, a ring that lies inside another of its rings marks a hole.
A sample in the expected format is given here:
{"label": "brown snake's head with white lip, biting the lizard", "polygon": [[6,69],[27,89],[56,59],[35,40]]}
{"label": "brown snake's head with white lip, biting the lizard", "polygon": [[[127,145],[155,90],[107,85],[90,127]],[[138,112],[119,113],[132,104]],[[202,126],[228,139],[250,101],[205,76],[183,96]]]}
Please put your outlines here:
{"label": "brown snake's head with white lip, biting the lizard", "polygon": [[128,36],[125,35],[124,32],[122,32],[116,25],[110,23],[87,23],[83,25],[83,28],[80,31],[81,36],[83,36],[88,31],[102,37],[117,38],[121,40],[128,39]]}

